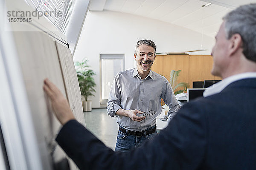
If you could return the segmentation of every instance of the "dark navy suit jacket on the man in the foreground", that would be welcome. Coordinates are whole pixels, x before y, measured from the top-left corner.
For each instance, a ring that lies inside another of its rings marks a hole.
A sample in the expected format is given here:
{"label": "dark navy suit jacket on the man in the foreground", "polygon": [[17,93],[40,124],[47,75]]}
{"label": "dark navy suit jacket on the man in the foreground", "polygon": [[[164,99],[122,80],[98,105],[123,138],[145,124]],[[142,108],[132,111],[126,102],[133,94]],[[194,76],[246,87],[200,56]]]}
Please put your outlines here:
{"label": "dark navy suit jacket on the man in the foreground", "polygon": [[189,102],[129,153],[113,152],[75,120],[56,141],[81,170],[256,170],[256,79]]}

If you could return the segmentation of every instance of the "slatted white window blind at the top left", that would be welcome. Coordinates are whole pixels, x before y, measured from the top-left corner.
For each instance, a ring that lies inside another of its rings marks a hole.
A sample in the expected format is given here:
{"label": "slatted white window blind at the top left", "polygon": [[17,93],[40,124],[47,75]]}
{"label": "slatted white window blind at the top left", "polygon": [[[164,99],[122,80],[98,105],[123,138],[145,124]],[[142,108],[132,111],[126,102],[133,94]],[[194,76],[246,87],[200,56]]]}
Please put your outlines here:
{"label": "slatted white window blind at the top left", "polygon": [[65,34],[75,0],[25,0]]}

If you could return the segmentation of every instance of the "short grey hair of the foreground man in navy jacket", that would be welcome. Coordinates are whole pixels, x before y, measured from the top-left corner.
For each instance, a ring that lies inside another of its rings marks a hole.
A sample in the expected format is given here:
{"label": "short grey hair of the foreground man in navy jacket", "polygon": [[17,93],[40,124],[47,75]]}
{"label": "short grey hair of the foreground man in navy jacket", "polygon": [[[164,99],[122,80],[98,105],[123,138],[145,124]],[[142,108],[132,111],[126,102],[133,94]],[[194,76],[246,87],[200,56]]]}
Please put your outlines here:
{"label": "short grey hair of the foreground man in navy jacket", "polygon": [[226,38],[239,34],[244,56],[256,62],[256,3],[239,6],[223,17]]}

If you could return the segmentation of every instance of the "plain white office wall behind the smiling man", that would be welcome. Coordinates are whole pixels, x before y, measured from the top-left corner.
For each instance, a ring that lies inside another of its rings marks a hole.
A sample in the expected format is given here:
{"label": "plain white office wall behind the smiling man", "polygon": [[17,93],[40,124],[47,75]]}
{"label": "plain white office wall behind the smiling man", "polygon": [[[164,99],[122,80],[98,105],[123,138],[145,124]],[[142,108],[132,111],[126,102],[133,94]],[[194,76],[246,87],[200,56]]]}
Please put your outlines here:
{"label": "plain white office wall behind the smiling man", "polygon": [[134,68],[135,45],[138,40],[150,39],[157,52],[209,49],[191,54],[209,55],[214,39],[201,33],[136,15],[113,11],[89,11],[74,54],[74,61],[84,57],[95,71],[96,93],[93,108],[100,107],[99,54],[125,54],[125,69]]}

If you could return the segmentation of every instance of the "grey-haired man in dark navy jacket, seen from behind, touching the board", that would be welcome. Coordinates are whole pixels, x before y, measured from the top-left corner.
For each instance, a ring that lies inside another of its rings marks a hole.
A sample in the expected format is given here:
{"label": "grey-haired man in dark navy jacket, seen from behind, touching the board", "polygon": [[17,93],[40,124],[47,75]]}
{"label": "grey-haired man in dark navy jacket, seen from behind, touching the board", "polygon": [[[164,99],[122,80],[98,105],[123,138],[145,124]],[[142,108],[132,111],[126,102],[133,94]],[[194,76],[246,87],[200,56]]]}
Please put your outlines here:
{"label": "grey-haired man in dark navy jacket, seen from behind, touching the board", "polygon": [[224,17],[212,56],[212,74],[223,80],[128,153],[113,152],[79,124],[46,79],[44,90],[63,125],[56,141],[81,170],[256,170],[255,3]]}

